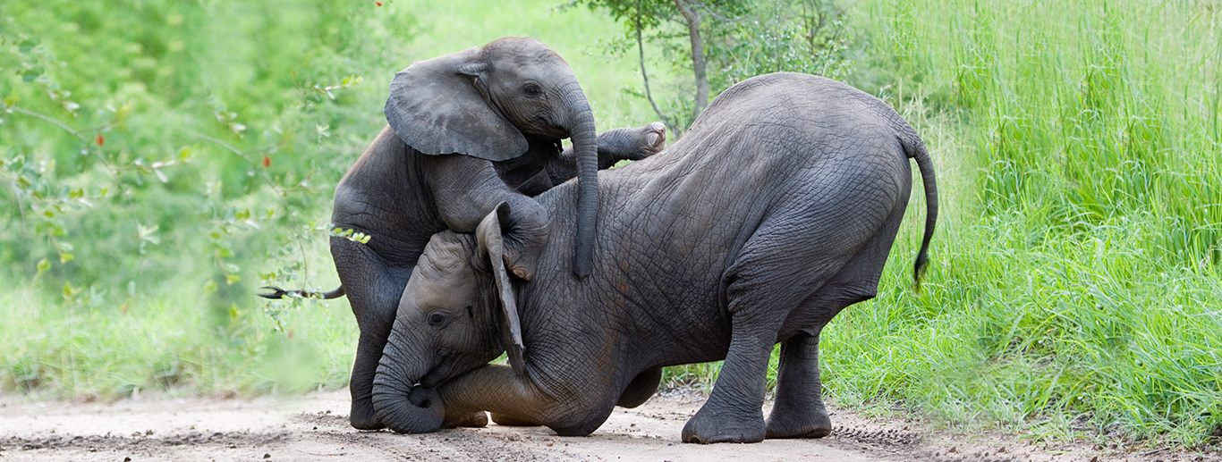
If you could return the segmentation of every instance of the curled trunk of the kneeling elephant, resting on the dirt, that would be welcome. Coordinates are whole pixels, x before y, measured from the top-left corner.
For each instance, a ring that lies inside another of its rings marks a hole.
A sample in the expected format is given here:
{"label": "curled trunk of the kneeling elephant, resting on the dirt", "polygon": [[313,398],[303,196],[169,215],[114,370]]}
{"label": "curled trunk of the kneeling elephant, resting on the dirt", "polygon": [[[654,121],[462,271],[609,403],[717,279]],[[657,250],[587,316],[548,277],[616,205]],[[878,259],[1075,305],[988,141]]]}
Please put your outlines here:
{"label": "curled trunk of the kneeling elephant, resting on the dirt", "polygon": [[[428,361],[408,356],[398,320],[374,376],[374,414],[396,433],[430,433],[441,428],[445,406],[436,390],[413,385],[428,373]],[[417,359],[417,361],[412,361]]]}

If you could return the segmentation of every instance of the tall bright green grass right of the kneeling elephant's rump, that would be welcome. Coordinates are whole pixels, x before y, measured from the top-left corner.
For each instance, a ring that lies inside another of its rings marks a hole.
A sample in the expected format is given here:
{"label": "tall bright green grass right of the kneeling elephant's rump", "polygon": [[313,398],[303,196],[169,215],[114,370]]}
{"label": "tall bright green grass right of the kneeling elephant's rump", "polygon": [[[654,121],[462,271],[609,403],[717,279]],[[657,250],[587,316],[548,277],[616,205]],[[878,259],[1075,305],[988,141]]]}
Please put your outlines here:
{"label": "tall bright green grass right of the kneeling elephant's rump", "polygon": [[1222,434],[1218,5],[884,0],[854,18],[859,84],[930,144],[948,213],[924,293],[896,264],[918,198],[879,298],[826,330],[833,400],[1035,438]]}

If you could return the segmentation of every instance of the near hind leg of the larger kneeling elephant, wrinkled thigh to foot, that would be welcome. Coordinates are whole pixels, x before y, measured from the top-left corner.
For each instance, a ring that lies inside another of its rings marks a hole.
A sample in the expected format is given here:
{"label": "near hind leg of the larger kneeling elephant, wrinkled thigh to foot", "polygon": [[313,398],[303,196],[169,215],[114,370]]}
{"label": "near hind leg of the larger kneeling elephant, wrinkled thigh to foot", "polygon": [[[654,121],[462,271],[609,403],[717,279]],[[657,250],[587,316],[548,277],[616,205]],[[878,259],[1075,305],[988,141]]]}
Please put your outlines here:
{"label": "near hind leg of the larger kneeling elephant, wrinkled thigh to foot", "polygon": [[865,196],[862,204],[880,207],[794,194],[826,199],[780,208],[785,213],[767,218],[743,246],[722,279],[731,317],[726,362],[709,401],[683,428],[683,441],[756,442],[766,436],[761,407],[772,346],[791,315],[836,279],[891,214],[887,198],[859,194]]}

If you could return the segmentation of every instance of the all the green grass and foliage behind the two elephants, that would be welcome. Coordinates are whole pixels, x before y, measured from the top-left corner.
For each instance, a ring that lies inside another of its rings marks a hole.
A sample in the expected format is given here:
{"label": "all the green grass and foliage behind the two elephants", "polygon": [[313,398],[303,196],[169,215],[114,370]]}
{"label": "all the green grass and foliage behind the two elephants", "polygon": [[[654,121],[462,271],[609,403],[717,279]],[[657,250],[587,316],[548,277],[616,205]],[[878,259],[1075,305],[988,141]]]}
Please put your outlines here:
{"label": "all the green grass and foliage behind the two elephants", "polygon": [[[802,50],[786,35],[800,27],[769,10],[799,2],[742,4],[708,32],[728,76],[716,88],[774,70],[752,56]],[[1222,436],[1222,4],[818,4],[843,12],[814,71],[913,123],[942,202],[924,291],[908,287],[914,194],[879,297],[824,332],[827,396],[1039,440]],[[657,117],[631,26],[554,6],[0,5],[0,387],[342,386],[347,302],[252,293],[336,284],[330,194],[385,123],[393,71],[532,35],[574,67],[600,130]],[[655,31],[655,98],[683,114],[686,37]],[[778,68],[815,62],[800,56]]]}

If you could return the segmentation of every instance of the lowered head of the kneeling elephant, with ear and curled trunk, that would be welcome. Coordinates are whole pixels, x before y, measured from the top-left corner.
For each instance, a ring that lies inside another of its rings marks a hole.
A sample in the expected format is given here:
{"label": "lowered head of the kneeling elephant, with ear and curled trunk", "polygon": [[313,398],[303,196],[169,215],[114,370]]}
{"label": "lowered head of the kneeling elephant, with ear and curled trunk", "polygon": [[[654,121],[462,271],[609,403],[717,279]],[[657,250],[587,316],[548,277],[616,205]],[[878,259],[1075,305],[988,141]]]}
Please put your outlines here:
{"label": "lowered head of the kneeling elephant, with ear and curled trunk", "polygon": [[475,236],[433,236],[407,282],[378,364],[373,403],[398,433],[428,433],[445,416],[435,387],[507,352],[522,373],[522,326],[502,262],[501,203]]}

